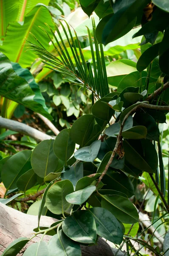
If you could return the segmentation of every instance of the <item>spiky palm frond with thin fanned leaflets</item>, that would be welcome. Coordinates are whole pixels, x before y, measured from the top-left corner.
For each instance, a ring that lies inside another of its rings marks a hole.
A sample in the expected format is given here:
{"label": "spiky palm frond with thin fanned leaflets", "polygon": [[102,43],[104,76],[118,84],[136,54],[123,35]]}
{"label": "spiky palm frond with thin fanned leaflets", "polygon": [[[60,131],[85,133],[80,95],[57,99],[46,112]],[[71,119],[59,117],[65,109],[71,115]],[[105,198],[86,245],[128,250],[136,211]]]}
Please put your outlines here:
{"label": "spiky palm frond with thin fanned leaflets", "polygon": [[[48,24],[46,24],[46,26],[48,26],[48,28],[51,30],[56,44],[48,34],[47,30],[41,27],[41,29],[43,29],[50,38],[51,43],[56,50],[57,56],[53,55],[51,52],[48,52],[48,50],[42,47],[39,41],[37,41],[37,44],[32,44],[31,41],[28,41],[28,48],[33,50],[37,56],[42,59],[42,62],[44,62],[48,68],[70,76],[75,81],[75,83],[83,87],[84,93],[85,90],[90,90],[94,96],[99,99],[109,93],[109,86],[107,81],[103,47],[101,44],[99,45],[96,40],[96,26],[94,20],[92,20],[92,23],[93,39],[90,34],[90,30],[87,28],[92,54],[92,63],[86,63],[78,36],[75,31],[73,36],[70,30],[70,26],[66,21],[65,26],[62,22],[60,22],[60,25],[65,34],[65,38],[67,40],[66,43],[63,40],[62,35],[57,27],[55,35]],[[96,57],[93,50],[93,41],[94,47],[96,49]]]}

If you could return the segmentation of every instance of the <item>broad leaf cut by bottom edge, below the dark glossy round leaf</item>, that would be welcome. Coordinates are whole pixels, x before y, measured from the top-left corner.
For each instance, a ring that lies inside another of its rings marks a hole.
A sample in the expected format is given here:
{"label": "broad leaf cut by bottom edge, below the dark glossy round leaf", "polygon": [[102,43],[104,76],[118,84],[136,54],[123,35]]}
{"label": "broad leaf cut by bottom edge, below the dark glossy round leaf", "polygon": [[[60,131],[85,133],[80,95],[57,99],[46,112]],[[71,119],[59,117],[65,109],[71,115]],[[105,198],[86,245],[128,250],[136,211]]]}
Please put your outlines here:
{"label": "broad leaf cut by bottom edge, below the dark glossy round leaf", "polygon": [[80,245],[65,236],[62,230],[49,241],[48,249],[50,256],[81,256]]}

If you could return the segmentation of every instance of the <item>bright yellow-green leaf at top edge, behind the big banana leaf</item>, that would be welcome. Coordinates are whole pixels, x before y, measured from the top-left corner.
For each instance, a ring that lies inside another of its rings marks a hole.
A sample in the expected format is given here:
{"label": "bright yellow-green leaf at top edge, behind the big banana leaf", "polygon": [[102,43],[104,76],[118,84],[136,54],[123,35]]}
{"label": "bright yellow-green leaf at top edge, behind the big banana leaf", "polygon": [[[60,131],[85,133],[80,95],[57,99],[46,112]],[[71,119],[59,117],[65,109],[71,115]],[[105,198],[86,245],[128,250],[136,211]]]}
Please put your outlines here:
{"label": "bright yellow-green leaf at top edge, behind the big banana leaf", "polygon": [[[41,0],[40,3],[45,4],[46,6],[48,6],[48,3],[50,2],[50,0]],[[18,7],[19,7],[19,12],[18,12],[18,16],[17,16],[17,21],[23,21],[25,15],[28,14],[28,12],[31,12],[31,9],[34,8],[34,6],[36,6],[39,3],[39,0],[20,0],[18,3]],[[12,20],[14,21],[14,20]]]}

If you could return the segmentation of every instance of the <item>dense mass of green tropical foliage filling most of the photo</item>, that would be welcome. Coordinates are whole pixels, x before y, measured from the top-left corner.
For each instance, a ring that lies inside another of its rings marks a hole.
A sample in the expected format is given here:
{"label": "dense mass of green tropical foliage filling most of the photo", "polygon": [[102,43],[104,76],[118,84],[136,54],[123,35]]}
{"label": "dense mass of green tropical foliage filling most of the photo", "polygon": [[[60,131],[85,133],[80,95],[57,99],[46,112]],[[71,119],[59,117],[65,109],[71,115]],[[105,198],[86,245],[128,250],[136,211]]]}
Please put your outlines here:
{"label": "dense mass of green tropical foliage filling most of the photo", "polygon": [[[28,201],[27,213],[39,212],[34,236],[52,237],[23,255],[80,256],[80,244],[96,244],[99,236],[121,247],[126,242],[127,255],[141,255],[130,240],[138,231],[137,201],[149,199],[146,211],[157,228],[169,212],[168,127],[162,129],[169,112],[168,1],[80,0],[82,9],[76,1],[28,1],[25,7],[13,1],[13,9],[8,2],[0,31],[1,116],[11,118],[23,105],[23,112],[67,127],[55,140],[30,139],[25,145],[32,151],[0,160],[6,188],[0,202],[45,188],[41,200]],[[82,10],[92,18],[77,25]],[[138,189],[142,183],[147,198]],[[41,227],[41,215],[58,221]],[[163,255],[153,241],[146,244],[152,237],[141,235],[135,239],[141,248]],[[17,239],[3,255],[17,255],[30,240]]]}

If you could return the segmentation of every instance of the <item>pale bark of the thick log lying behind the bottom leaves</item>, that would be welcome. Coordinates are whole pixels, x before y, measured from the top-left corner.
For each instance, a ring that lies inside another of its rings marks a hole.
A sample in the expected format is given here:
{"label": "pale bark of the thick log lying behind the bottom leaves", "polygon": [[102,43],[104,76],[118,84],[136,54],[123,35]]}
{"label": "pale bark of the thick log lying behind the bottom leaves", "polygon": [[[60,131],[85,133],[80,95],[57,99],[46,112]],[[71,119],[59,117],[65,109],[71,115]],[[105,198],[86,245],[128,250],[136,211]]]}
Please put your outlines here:
{"label": "pale bark of the thick log lying behind the bottom leaves", "polygon": [[[40,220],[41,226],[50,226],[57,220],[51,217],[42,216]],[[0,203],[0,255],[8,247],[8,245],[19,237],[31,238],[34,233],[33,229],[37,227],[37,216],[28,215],[19,212],[11,207]],[[29,244],[39,241],[41,235],[35,237]],[[44,240],[49,241],[51,236],[45,236]],[[22,256],[27,244],[23,250],[17,255]],[[82,256],[114,256],[110,246],[103,239],[99,238],[96,246],[81,246]],[[122,253],[122,252],[121,252]],[[123,253],[124,254],[124,253]],[[118,254],[123,255],[123,254]],[[72,255],[73,256],[73,255]]]}

